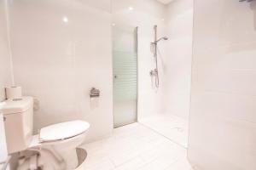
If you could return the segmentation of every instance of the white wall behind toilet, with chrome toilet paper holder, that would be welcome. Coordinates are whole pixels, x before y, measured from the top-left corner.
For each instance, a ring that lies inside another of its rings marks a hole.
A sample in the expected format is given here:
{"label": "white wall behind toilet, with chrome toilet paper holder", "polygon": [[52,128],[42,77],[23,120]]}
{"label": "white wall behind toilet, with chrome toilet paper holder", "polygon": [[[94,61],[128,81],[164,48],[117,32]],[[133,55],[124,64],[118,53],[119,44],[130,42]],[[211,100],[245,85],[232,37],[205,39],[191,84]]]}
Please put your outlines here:
{"label": "white wall behind toilet, with chrome toilet paper holder", "polygon": [[[35,132],[82,119],[91,125],[87,140],[111,133],[110,1],[14,0],[9,11],[16,85],[40,101]],[[101,90],[93,103],[92,87]]]}

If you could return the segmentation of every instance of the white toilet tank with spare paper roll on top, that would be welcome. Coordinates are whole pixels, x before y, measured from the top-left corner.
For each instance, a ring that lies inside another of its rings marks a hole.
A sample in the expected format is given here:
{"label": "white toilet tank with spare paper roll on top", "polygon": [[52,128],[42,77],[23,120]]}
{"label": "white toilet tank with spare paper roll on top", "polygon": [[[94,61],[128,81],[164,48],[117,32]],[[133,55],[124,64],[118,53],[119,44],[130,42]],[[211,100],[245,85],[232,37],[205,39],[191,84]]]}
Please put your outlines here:
{"label": "white toilet tank with spare paper roll on top", "polygon": [[33,99],[8,99],[0,112],[3,113],[7,150],[15,153],[26,150],[32,141]]}

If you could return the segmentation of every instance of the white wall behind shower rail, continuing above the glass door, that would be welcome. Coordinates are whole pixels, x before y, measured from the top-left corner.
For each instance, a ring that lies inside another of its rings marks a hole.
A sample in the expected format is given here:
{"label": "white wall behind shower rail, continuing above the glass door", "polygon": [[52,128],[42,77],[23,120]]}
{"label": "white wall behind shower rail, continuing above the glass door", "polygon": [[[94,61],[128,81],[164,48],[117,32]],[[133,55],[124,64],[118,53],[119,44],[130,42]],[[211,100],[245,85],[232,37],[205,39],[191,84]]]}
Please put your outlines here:
{"label": "white wall behind shower rail, continuing above the glass door", "polygon": [[[134,10],[129,10],[129,7]],[[149,72],[154,69],[154,55],[150,42],[154,41],[154,25],[159,26],[159,37],[165,35],[166,7],[155,0],[113,0],[113,23],[121,26],[138,26],[138,119],[164,111],[162,91],[164,80],[164,54],[160,54],[160,89],[152,87]],[[164,48],[160,48],[164,53]]]}

